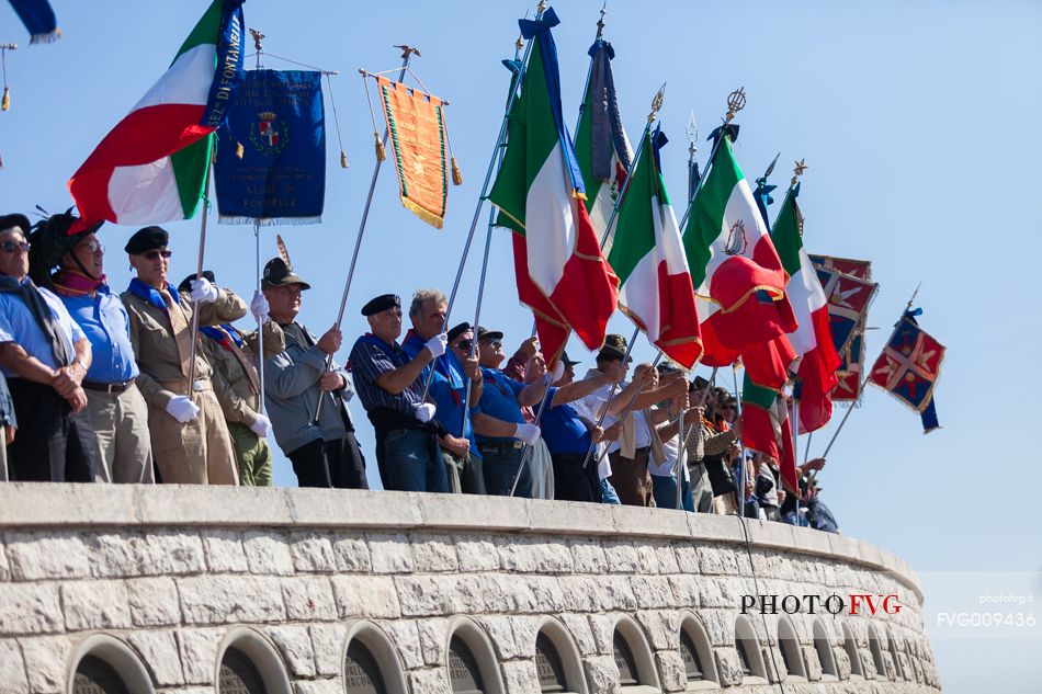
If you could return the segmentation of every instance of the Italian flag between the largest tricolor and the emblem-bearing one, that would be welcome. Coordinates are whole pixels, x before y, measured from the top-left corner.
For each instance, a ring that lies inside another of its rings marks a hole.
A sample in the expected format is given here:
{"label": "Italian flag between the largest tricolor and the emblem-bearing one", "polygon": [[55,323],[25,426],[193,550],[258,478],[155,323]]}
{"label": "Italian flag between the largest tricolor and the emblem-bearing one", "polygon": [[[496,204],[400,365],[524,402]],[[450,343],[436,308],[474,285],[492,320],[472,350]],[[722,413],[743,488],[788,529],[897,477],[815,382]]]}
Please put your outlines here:
{"label": "Italian flag between the largest tricolor and the emblem-bearing one", "polygon": [[680,229],[658,166],[665,144],[660,130],[645,135],[645,156],[619,206],[608,262],[622,283],[619,307],[667,356],[691,368],[702,353],[702,339]]}

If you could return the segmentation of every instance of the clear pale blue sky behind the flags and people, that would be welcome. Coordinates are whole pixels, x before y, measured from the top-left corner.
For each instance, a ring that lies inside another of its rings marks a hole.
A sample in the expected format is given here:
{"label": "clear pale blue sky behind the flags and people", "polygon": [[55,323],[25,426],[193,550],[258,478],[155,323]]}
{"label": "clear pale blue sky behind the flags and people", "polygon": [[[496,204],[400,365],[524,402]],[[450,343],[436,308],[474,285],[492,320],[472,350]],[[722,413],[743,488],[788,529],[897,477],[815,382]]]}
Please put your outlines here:
{"label": "clear pale blue sky behind the flags and people", "polygon": [[[68,177],[161,75],[206,3],[54,4],[65,36],[32,47],[7,3],[0,5],[0,43],[21,46],[8,56],[12,109],[0,113],[2,212],[27,213],[36,204],[56,212],[71,204]],[[600,4],[555,7],[569,123],[578,114]],[[419,287],[450,288],[499,129],[508,78],[499,60],[512,57],[517,19],[533,8],[399,2],[392,14],[390,5],[378,13],[370,3],[293,7],[251,0],[247,25],[268,35],[265,49],[273,54],[341,71],[333,86],[351,160],[348,170],[339,168],[330,130],[324,224],[278,229],[314,287],[302,316],[313,331],[336,317],[373,170],[359,67],[398,65],[392,44],[421,49],[415,69],[452,102],[448,123],[465,177],[463,186],[450,191],[445,228],[438,231],[401,207],[393,171],[381,172],[348,303],[342,360],[364,330],[359,308],[373,295],[396,292],[407,300]],[[658,86],[667,82],[660,122],[671,144],[662,166],[675,201],[686,191],[689,113],[694,111],[704,139],[720,123],[727,93],[744,86],[748,105],[737,118],[736,153],[746,174],[759,175],[780,150],[772,182],[783,187],[792,160],[806,158],[804,243],[811,252],[873,262],[881,292],[870,314],[870,325],[879,328],[869,335],[870,359],[922,281],[921,325],[949,348],[936,396],[944,428],[922,436],[913,412],[882,391],[869,391],[820,477],[823,499],[842,531],[909,561],[922,574],[928,606],[930,582],[950,576],[935,572],[1019,571],[1020,584],[1042,594],[1039,494],[1032,485],[1040,460],[1022,435],[1042,421],[1028,402],[1042,385],[1031,361],[1042,312],[1023,299],[1038,294],[1034,262],[1042,251],[1032,202],[1042,160],[1042,5],[613,2],[607,22],[632,140]],[[265,65],[291,67],[274,58]],[[704,141],[700,148],[704,158],[709,148]],[[486,218],[487,211],[479,239]],[[168,228],[175,252],[171,275],[180,278],[194,269],[199,221]],[[121,249],[133,231],[110,225],[101,232],[111,282],[120,289],[129,278]],[[264,260],[274,255],[275,231],[262,232]],[[473,317],[480,250],[478,243],[452,322]],[[528,335],[531,315],[518,304],[505,231],[494,232],[490,255],[484,322],[503,329],[513,344]],[[252,293],[250,227],[212,224],[206,259],[223,284]],[[612,328],[632,331],[621,316]],[[575,342],[570,353],[589,363]],[[635,355],[654,355],[643,338]],[[371,430],[361,408],[352,410],[371,454]],[[815,434],[812,454],[829,435]],[[275,477],[293,483],[281,456]],[[995,588],[965,580],[982,593]],[[1015,691],[1042,681],[1042,664],[1029,657],[1038,641],[943,638],[932,645],[947,691],[1006,681]]]}

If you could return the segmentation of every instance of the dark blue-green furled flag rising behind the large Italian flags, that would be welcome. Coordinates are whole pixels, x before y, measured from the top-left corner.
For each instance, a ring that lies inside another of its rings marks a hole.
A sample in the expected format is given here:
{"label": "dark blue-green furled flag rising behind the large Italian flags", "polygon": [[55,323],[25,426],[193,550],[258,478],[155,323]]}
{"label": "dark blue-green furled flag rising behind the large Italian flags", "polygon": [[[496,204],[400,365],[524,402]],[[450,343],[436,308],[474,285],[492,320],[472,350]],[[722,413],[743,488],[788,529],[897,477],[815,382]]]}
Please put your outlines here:
{"label": "dark blue-green furled flag rising behind the large Italian flags", "polygon": [[[609,253],[612,238],[608,231],[608,220],[626,181],[633,149],[619,114],[619,99],[611,70],[615,50],[610,43],[598,38],[588,53],[590,76],[582,95],[579,127],[575,134],[575,155],[586,183],[586,209],[590,213],[598,240],[602,242],[604,252]],[[618,220],[618,216],[615,218]],[[615,223],[612,224],[615,226]]]}

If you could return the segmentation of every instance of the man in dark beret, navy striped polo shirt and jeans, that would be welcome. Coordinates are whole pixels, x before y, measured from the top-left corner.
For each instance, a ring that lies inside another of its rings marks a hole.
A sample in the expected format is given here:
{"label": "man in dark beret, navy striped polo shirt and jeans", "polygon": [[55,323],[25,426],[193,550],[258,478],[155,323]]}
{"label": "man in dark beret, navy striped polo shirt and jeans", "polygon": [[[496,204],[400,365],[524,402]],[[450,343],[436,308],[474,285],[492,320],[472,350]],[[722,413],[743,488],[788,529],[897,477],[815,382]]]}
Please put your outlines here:
{"label": "man in dark beret, navy striped polo shirt and jeans", "polygon": [[376,430],[376,464],[385,489],[449,490],[438,452],[444,428],[433,419],[435,408],[422,401],[423,368],[445,352],[449,338],[428,340],[415,359],[398,344],[401,300],[395,294],[377,296],[362,307],[371,332],[351,349],[351,374],[359,399]]}

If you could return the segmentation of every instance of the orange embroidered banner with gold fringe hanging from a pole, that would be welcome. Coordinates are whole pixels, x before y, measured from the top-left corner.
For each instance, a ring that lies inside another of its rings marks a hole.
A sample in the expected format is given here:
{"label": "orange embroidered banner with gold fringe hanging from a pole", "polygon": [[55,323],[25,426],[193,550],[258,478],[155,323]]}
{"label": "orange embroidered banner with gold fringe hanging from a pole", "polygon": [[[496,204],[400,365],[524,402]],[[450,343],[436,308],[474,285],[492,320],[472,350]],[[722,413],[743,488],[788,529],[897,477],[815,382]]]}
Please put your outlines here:
{"label": "orange embroidered banner with gold fringe hanging from a pole", "polygon": [[401,82],[376,78],[401,204],[441,228],[449,194],[449,153],[442,101]]}

